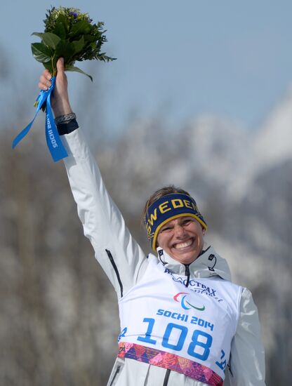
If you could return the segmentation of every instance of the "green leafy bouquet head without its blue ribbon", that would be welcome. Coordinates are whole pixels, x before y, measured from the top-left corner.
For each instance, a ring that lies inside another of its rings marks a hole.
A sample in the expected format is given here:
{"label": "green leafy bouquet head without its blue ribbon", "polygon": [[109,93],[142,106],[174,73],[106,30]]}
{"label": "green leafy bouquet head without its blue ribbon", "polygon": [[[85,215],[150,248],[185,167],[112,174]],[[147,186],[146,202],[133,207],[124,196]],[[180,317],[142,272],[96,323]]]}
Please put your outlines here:
{"label": "green leafy bouquet head without its blue ribbon", "polygon": [[41,43],[32,43],[32,55],[43,63],[53,76],[56,74],[56,63],[61,56],[64,58],[67,71],[81,72],[92,76],[74,66],[82,60],[102,60],[109,62],[110,58],[100,52],[102,44],[107,41],[104,23],[93,24],[88,13],[81,13],[77,8],[51,7],[47,10],[44,20],[44,32],[34,32],[39,36]]}

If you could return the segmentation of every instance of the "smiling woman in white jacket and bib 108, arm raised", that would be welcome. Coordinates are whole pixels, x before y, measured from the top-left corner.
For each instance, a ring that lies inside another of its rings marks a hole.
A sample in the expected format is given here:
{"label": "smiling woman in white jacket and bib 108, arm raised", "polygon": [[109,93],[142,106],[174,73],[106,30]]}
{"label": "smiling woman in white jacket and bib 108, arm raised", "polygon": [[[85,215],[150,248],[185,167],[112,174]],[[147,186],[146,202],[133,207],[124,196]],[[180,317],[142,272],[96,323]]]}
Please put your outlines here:
{"label": "smiling woman in white jacket and bib 108, arm raised", "polygon": [[[45,70],[39,88],[51,86],[50,79]],[[232,284],[227,262],[204,248],[207,225],[194,199],[175,187],[150,197],[145,226],[158,257],[146,257],[72,115],[62,59],[52,107],[84,234],[119,299],[119,353],[107,385],[265,385],[251,293]]]}

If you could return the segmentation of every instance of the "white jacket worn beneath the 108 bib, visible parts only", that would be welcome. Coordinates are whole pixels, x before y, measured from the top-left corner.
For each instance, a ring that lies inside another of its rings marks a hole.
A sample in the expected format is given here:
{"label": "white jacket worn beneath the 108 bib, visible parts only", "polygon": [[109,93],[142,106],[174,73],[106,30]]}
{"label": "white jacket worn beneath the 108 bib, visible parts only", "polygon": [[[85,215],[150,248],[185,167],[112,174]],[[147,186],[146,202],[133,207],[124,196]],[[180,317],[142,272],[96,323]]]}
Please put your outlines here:
{"label": "white jacket worn beneath the 108 bib, visible parts only", "polygon": [[[62,135],[69,157],[65,166],[77,202],[84,234],[90,239],[98,260],[117,291],[118,298],[128,292],[142,278],[148,260],[125,225],[119,209],[107,193],[100,171],[81,129]],[[210,256],[213,257],[210,260]],[[175,274],[185,275],[185,265],[164,253],[166,267]],[[190,265],[190,278],[219,276],[230,281],[227,262],[209,247]],[[251,292],[241,293],[237,331],[231,345],[230,371],[226,371],[224,385],[265,385],[265,357],[260,339],[258,310]],[[110,375],[108,386],[161,385],[203,386],[187,376],[152,366],[134,359],[118,358]]]}

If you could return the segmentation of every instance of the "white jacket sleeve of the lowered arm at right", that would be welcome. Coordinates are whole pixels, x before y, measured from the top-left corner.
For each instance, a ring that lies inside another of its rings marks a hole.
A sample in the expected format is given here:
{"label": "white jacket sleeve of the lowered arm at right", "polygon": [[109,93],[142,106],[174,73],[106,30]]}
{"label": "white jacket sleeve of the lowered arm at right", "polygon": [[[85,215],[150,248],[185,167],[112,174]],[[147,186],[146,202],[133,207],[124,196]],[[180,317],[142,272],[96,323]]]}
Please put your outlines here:
{"label": "white jacket sleeve of the lowered arm at right", "polygon": [[265,352],[260,338],[258,309],[247,288],[241,293],[240,315],[232,340],[227,378],[229,380],[224,385],[265,386]]}

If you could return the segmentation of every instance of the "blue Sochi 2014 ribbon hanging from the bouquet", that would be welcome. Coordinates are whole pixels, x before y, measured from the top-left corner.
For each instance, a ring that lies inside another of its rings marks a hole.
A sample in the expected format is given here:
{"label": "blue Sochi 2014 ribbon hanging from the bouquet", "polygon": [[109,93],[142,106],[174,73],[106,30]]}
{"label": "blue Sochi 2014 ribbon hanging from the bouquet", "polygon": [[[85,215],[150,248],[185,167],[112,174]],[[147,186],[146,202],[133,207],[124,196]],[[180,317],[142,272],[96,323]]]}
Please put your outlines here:
{"label": "blue Sochi 2014 ribbon hanging from the bouquet", "polygon": [[[42,90],[39,93],[39,96],[36,98],[37,107],[36,107],[36,114],[34,114],[34,119],[36,119],[36,115],[41,109],[41,106],[44,105],[44,102],[46,102],[46,143],[48,145],[48,149],[51,152],[51,156],[53,157],[53,160],[57,162],[57,161],[60,161],[60,159],[68,157],[68,154],[65,147],[62,144],[60,135],[55,126],[55,120],[51,109],[51,93],[55,87],[55,76],[53,76],[53,78],[51,79],[51,82],[52,82],[51,87],[48,88],[47,91]],[[34,119],[32,119],[32,121],[29,122],[29,124],[22,131],[20,131],[20,133],[14,138],[12,143],[13,149],[16,145],[18,145],[18,142],[20,142],[23,138],[25,138],[25,135],[27,135],[30,128],[32,127],[32,124],[34,123]]]}

